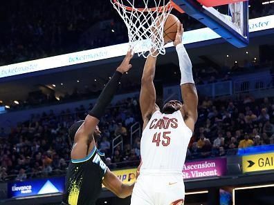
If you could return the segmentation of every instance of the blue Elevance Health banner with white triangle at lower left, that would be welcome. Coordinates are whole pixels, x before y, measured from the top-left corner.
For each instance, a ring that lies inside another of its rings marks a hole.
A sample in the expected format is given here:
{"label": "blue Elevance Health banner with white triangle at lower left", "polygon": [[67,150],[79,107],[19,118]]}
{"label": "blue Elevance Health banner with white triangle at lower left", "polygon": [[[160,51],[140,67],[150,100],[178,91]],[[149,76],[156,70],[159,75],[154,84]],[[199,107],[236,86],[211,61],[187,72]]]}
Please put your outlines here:
{"label": "blue Elevance Health banner with white triangle at lower left", "polygon": [[8,183],[8,198],[63,193],[65,177]]}

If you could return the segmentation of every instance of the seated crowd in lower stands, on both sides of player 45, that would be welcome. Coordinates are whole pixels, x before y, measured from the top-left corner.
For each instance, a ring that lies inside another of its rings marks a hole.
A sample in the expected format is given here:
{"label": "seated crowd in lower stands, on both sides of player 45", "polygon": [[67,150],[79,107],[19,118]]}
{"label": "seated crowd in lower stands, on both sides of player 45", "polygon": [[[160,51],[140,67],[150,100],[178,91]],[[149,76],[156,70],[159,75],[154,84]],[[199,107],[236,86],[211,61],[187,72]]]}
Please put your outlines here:
{"label": "seated crowd in lower stands, on both sides of player 45", "polygon": [[[89,108],[91,108],[90,105]],[[0,131],[0,179],[24,180],[64,174],[70,159],[67,130],[84,119],[84,106],[62,113],[32,115],[7,134]],[[200,97],[199,118],[188,147],[187,159],[235,155],[237,148],[274,144],[274,98],[208,99]],[[130,127],[141,123],[138,100],[128,98],[110,106],[100,119],[102,137],[98,148],[109,168],[136,166],[140,160],[140,136],[130,140]],[[120,135],[123,146],[112,150]]]}

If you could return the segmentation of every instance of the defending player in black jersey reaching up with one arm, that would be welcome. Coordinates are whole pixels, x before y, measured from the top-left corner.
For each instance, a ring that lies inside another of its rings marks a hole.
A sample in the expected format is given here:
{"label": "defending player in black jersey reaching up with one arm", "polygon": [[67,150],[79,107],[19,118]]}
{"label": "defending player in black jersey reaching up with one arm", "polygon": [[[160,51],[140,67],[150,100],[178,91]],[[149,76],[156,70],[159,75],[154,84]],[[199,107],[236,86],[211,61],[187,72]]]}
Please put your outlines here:
{"label": "defending player in black jersey reaching up with one arm", "polygon": [[89,110],[86,119],[77,121],[69,129],[73,148],[62,204],[95,205],[102,190],[102,184],[118,197],[124,198],[132,193],[134,184],[130,186],[122,184],[120,179],[104,164],[100,157],[101,153],[95,146],[100,137],[100,130],[97,126],[99,119],[116,93],[122,74],[131,68],[129,61],[132,57],[130,50],[102,90],[95,106]]}

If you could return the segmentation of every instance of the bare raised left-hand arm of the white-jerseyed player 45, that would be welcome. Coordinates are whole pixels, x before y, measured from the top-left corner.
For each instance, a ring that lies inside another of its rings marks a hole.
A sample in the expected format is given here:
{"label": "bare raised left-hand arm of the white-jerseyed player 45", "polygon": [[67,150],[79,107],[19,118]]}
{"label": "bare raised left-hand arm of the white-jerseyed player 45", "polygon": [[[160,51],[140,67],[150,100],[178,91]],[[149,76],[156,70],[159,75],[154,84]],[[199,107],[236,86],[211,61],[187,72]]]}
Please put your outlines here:
{"label": "bare raised left-hand arm of the white-jerseyed player 45", "polygon": [[154,87],[154,75],[156,68],[156,59],[157,57],[152,57],[149,55],[145,61],[145,67],[143,70],[142,77],[142,86],[140,90],[140,110],[142,113],[144,126],[147,125],[149,119],[152,117],[152,114],[159,110],[156,106],[156,90]]}

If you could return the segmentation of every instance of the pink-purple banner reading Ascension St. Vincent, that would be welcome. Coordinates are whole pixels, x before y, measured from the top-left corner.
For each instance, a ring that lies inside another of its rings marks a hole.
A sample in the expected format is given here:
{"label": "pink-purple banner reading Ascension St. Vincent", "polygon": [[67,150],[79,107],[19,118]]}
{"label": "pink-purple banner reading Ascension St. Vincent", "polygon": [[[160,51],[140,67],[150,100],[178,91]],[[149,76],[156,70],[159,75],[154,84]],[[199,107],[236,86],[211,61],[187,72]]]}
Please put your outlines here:
{"label": "pink-purple banner reading Ascension St. Vincent", "polygon": [[226,158],[185,162],[183,178],[214,177],[226,175]]}

